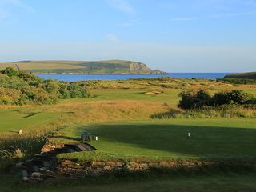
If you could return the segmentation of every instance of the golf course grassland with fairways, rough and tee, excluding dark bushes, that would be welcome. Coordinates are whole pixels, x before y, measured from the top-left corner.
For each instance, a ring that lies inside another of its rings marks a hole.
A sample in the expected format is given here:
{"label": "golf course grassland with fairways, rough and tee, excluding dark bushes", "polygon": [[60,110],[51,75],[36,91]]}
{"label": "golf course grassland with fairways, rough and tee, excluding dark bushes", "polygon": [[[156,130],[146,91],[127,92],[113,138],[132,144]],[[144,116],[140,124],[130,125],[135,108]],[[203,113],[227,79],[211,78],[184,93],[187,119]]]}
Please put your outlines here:
{"label": "golf course grassland with fairways, rough and tee, excluding dark bushes", "polygon": [[[59,82],[43,83],[47,88]],[[27,100],[25,105],[12,103],[0,107],[1,191],[122,191],[124,187],[127,191],[166,191],[170,187],[174,191],[255,189],[254,106],[216,107],[209,102],[206,108],[185,110],[181,108],[184,97],[180,93],[192,87],[207,90],[209,99],[214,99],[214,94],[225,90],[227,94],[242,94],[245,100],[256,96],[256,86],[175,78],[86,81],[78,86],[86,86],[90,94],[58,98],[53,104]],[[22,134],[18,134],[19,130]],[[97,140],[86,142],[96,150],[58,154],[59,163],[163,166],[87,175],[86,179],[79,177],[73,182],[65,182],[61,176],[39,183],[21,182],[22,174],[13,168],[15,164],[34,158],[45,145],[79,143],[84,131],[97,136]],[[218,166],[193,166],[211,162]],[[178,166],[170,166],[175,163]]]}

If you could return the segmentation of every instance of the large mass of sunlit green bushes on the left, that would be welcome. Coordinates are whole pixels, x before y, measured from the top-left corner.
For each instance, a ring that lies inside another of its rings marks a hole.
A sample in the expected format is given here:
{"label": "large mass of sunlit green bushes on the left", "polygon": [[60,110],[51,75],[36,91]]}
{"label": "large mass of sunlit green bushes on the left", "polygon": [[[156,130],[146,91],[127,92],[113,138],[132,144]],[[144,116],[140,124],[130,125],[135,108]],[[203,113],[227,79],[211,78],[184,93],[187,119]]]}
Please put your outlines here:
{"label": "large mass of sunlit green bushes on the left", "polygon": [[78,82],[45,80],[34,74],[6,68],[0,72],[0,104],[54,104],[63,98],[87,98],[90,92]]}

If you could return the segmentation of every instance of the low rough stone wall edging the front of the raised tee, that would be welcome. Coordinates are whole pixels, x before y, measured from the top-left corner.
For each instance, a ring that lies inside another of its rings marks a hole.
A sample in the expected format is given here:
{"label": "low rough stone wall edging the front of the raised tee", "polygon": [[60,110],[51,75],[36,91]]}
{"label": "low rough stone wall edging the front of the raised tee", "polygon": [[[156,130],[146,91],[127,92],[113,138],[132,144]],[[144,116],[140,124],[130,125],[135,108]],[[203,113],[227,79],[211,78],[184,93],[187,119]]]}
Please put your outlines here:
{"label": "low rough stone wall edging the front of the raised tee", "polygon": [[175,170],[180,167],[199,168],[217,165],[218,162],[200,161],[168,161],[168,162],[72,162],[63,160],[59,162],[58,172],[67,177],[97,176],[102,174],[129,171],[131,173],[146,172],[148,170]]}

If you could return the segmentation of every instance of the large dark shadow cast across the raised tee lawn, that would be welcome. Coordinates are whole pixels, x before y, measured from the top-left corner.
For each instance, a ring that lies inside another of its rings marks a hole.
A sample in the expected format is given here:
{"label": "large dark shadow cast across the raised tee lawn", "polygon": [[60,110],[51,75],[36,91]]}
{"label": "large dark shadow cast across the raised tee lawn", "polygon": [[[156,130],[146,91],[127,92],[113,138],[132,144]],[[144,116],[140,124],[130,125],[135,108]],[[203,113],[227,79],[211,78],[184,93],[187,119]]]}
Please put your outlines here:
{"label": "large dark shadow cast across the raised tee lawn", "polygon": [[[83,129],[84,127],[78,128],[78,130]],[[199,158],[256,157],[256,129],[127,124],[90,126],[87,127],[87,130],[93,135],[98,135],[103,141],[110,142],[110,145],[113,145],[113,151],[108,152],[113,153],[117,150],[126,151],[125,146],[117,145],[117,143],[125,143],[135,146],[134,153],[139,153],[139,151],[143,153],[143,150],[138,150],[138,148],[142,148],[160,150],[165,152],[166,156],[177,153]],[[190,137],[188,137],[188,133],[190,133]],[[109,146],[108,149],[110,149]],[[127,151],[127,153],[130,152]]]}

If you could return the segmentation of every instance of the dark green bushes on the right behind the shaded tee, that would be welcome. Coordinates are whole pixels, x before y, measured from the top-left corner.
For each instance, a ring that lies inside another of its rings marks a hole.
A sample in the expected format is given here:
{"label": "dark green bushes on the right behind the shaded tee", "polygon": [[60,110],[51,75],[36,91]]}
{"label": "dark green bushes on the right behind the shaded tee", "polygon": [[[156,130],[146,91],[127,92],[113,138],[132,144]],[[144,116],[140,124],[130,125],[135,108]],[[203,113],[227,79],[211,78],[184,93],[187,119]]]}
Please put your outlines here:
{"label": "dark green bushes on the right behind the shaded tee", "polygon": [[183,110],[202,109],[204,106],[222,106],[232,104],[254,104],[256,98],[253,94],[242,90],[219,92],[211,96],[206,90],[185,90],[180,96],[178,107]]}

